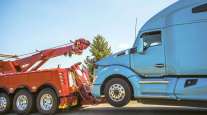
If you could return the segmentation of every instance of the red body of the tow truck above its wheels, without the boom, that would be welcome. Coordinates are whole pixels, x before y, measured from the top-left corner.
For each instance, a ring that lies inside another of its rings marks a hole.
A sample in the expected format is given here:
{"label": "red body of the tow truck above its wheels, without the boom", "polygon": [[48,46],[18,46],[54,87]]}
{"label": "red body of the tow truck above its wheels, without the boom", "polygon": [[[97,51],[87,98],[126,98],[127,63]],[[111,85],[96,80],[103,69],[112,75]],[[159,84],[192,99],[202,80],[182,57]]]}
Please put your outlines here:
{"label": "red body of the tow truck above its wheels, without the boom", "polygon": [[60,97],[60,105],[70,105],[72,102],[64,100],[69,96],[76,99],[71,94],[77,91],[75,86],[69,84],[68,72],[70,72],[68,69],[56,68],[1,75],[0,87],[9,94],[14,94],[18,89],[22,88],[26,88],[31,93],[36,93],[42,88],[51,87],[55,90],[57,96]]}

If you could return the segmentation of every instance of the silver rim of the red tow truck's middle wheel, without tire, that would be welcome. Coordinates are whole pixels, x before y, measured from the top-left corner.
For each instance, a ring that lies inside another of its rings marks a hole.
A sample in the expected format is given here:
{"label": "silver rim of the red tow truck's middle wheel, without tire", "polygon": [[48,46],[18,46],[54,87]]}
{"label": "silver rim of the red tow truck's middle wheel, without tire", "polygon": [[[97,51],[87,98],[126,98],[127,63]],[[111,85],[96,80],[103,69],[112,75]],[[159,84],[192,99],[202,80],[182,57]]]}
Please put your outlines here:
{"label": "silver rim of the red tow truck's middle wheel, without tire", "polygon": [[16,106],[18,110],[24,111],[28,106],[28,98],[25,95],[20,95],[17,98]]}

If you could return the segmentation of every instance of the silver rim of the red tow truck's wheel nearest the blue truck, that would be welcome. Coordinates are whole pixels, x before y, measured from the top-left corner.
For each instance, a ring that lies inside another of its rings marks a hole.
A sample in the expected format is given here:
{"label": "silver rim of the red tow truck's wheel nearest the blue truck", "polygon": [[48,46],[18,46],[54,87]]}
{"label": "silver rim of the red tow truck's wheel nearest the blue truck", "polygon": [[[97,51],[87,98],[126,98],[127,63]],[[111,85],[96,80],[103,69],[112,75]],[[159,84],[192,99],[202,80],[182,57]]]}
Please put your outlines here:
{"label": "silver rim of the red tow truck's wheel nearest the blue truck", "polygon": [[53,106],[53,97],[50,94],[42,95],[40,99],[40,106],[43,110],[49,111]]}

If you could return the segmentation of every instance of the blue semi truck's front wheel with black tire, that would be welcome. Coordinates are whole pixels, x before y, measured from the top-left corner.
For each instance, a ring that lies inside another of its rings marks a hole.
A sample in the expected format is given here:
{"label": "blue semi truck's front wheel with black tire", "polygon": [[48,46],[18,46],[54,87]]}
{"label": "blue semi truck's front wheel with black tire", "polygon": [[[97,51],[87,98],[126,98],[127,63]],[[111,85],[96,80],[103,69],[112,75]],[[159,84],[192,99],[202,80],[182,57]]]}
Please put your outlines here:
{"label": "blue semi truck's front wheel with black tire", "polygon": [[127,81],[121,78],[112,78],[104,88],[107,101],[114,107],[122,107],[129,103],[132,90]]}

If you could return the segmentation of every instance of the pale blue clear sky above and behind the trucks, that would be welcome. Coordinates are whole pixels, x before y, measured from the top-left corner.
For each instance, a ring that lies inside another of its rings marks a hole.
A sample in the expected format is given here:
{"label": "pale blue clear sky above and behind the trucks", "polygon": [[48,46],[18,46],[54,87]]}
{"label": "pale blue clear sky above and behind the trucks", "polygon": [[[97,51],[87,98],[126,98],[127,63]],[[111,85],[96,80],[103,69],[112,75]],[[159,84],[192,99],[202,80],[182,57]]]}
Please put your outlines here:
{"label": "pale blue clear sky above and behind the trucks", "polygon": [[[0,0],[0,54],[21,55],[101,34],[112,52],[130,48],[137,30],[177,0]],[[90,56],[57,57],[44,68]]]}

